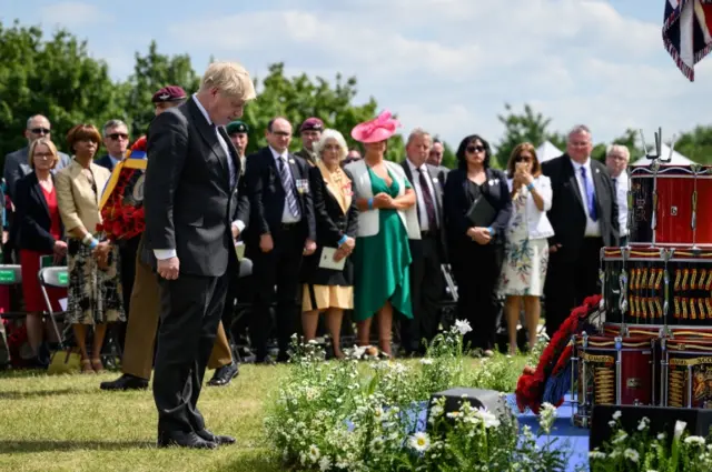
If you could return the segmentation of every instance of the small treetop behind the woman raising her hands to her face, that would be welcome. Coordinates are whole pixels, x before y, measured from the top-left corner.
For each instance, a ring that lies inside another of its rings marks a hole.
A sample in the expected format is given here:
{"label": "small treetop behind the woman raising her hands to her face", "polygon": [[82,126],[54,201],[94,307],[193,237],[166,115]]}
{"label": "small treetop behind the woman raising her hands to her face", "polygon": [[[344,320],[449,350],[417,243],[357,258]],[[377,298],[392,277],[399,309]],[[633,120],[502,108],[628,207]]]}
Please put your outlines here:
{"label": "small treetop behind the woman raising her hands to her face", "polygon": [[546,140],[552,141],[552,144],[557,147],[562,143],[560,134],[548,132],[552,119],[544,118],[542,113],[535,113],[531,106],[525,104],[522,114],[514,113],[510,103],[505,103],[504,109],[506,114],[497,116],[500,122],[504,124],[504,135],[497,144],[495,154],[495,160],[500,168],[504,169],[506,167],[512,151],[522,142],[531,142],[535,147],[541,145]]}

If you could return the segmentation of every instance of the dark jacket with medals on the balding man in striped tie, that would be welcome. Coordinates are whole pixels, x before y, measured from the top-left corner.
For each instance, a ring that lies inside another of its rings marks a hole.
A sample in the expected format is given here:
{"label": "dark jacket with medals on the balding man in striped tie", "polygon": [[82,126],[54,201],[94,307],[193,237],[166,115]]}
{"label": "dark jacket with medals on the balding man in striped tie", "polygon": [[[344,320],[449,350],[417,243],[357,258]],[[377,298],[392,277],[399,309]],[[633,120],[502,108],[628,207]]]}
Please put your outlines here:
{"label": "dark jacket with medals on the balding man in striped tie", "polygon": [[[291,170],[294,194],[301,210],[301,234],[305,239],[316,241],[316,220],[312,185],[307,191],[297,191],[297,180],[309,182],[309,164],[299,157],[288,154],[287,161]],[[247,197],[249,199],[249,225],[245,232],[245,242],[259,245],[263,234],[275,232],[281,224],[281,215],[286,204],[286,193],[281,187],[279,170],[269,148],[263,148],[247,157]]]}

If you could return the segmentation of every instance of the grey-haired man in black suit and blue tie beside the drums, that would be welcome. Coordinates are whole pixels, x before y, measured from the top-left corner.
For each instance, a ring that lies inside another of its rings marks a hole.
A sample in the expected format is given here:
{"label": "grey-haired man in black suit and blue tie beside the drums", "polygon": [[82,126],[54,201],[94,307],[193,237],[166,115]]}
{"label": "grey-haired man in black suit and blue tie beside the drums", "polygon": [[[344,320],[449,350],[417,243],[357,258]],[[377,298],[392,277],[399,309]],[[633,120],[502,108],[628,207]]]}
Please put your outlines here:
{"label": "grey-haired man in black suit and blue tie beside the drums", "polygon": [[615,192],[604,164],[591,159],[591,131],[578,125],[568,133],[566,153],[542,164],[552,181],[554,227],[544,285],[546,333],[552,337],[574,307],[600,292],[603,245],[616,245],[619,217]]}

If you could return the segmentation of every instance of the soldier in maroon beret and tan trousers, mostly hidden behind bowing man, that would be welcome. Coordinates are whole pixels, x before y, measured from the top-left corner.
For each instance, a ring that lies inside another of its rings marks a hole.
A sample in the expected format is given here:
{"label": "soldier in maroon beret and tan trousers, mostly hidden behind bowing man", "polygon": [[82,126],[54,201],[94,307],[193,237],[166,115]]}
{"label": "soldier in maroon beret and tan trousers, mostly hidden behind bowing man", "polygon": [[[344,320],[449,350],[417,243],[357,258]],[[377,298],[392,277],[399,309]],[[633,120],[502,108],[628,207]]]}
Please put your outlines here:
{"label": "soldier in maroon beret and tan trousers, mostly hidden behind bowing man", "polygon": [[[182,88],[169,86],[157,91],[151,101],[158,116],[169,108],[178,107],[186,100],[187,96]],[[152,257],[152,252],[145,249],[144,243],[144,237],[141,237],[136,257],[136,277],[131,291],[129,322],[126,329],[126,344],[121,360],[122,375],[110,382],[101,382],[101,390],[147,389],[151,376],[160,300],[158,275],[154,272],[149,259]],[[235,362],[230,345],[220,324],[208,366],[219,370],[224,365],[233,364]]]}

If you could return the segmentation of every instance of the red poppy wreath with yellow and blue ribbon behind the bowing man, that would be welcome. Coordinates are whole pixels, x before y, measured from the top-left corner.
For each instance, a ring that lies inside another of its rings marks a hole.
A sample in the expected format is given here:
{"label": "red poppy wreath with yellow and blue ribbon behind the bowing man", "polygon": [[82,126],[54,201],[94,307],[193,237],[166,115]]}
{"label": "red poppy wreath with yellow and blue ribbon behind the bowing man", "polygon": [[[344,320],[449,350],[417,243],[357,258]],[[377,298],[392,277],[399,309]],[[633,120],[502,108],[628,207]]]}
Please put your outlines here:
{"label": "red poppy wreath with yellow and blue ribbon behind the bowing man", "polygon": [[146,137],[139,138],[119,162],[101,195],[102,222],[97,231],[110,241],[128,240],[146,230],[144,179],[146,172]]}

